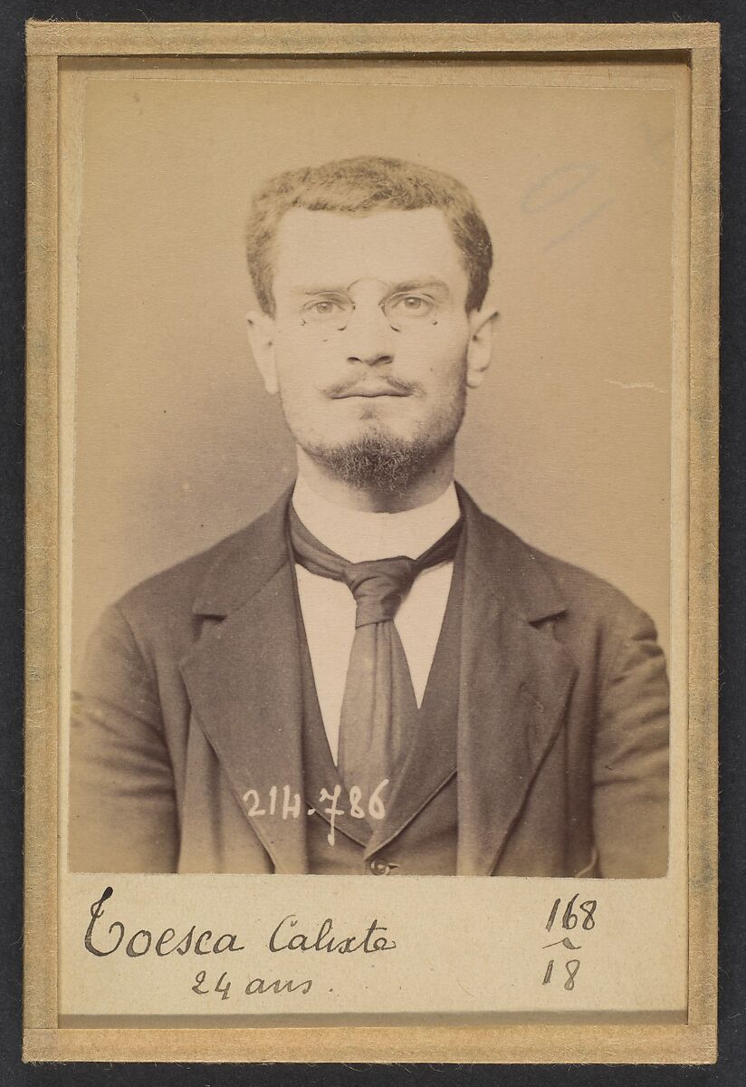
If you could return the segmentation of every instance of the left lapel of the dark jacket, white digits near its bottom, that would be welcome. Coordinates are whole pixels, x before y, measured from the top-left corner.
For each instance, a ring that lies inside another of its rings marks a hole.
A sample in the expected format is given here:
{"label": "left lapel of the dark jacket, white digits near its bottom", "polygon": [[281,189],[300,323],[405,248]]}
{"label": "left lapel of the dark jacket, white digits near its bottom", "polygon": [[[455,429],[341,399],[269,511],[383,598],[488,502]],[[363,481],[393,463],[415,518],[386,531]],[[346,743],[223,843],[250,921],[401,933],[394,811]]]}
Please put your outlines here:
{"label": "left lapel of the dark jacket, white digits near its bottom", "polygon": [[[181,674],[197,720],[276,871],[302,873],[306,807],[300,650],[285,529],[289,493],[220,551],[193,608],[220,622],[203,624]],[[283,817],[286,786],[291,804],[299,795],[300,811],[285,809]]]}

